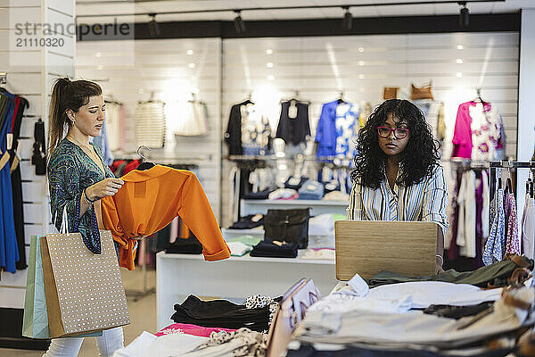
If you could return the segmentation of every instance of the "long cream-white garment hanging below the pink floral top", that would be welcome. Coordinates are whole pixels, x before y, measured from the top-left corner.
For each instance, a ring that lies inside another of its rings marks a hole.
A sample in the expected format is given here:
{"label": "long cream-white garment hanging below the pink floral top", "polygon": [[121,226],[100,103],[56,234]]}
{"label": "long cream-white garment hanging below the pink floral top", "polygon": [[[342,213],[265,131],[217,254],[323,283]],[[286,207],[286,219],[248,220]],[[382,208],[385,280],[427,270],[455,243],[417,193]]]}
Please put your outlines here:
{"label": "long cream-white garment hanging below the pink floral top", "polygon": [[457,195],[459,206],[457,245],[459,254],[475,258],[475,172],[466,171]]}

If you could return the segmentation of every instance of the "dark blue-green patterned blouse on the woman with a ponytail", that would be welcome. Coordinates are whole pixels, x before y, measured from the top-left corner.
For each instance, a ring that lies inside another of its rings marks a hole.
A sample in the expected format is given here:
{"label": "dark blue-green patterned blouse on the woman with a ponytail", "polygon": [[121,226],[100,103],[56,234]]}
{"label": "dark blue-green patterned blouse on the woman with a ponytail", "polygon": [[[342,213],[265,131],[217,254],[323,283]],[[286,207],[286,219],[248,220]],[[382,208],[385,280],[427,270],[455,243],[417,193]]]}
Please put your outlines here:
{"label": "dark blue-green patterned blouse on the woman with a ponytail", "polygon": [[[93,144],[92,144],[93,145]],[[95,152],[103,162],[98,146]],[[95,206],[92,205],[79,217],[80,199],[86,187],[106,178],[113,178],[110,168],[103,163],[103,170],[76,144],[64,138],[53,151],[48,162],[48,182],[53,224],[58,230],[62,226],[63,207],[67,206],[70,232],[79,232],[84,244],[93,253],[101,253],[100,233],[96,221]]]}

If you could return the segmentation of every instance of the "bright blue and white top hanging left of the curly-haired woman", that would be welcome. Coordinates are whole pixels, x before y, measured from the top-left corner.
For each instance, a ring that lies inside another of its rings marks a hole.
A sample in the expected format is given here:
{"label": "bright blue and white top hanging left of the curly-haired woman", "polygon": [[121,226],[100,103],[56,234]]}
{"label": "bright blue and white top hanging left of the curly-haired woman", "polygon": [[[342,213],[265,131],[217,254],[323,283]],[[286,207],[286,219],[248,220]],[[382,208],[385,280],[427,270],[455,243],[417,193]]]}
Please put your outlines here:
{"label": "bright blue and white top hanging left of the curly-haired woman", "polygon": [[316,129],[317,157],[354,157],[352,140],[357,137],[358,126],[358,108],[353,104],[337,100],[323,104]]}

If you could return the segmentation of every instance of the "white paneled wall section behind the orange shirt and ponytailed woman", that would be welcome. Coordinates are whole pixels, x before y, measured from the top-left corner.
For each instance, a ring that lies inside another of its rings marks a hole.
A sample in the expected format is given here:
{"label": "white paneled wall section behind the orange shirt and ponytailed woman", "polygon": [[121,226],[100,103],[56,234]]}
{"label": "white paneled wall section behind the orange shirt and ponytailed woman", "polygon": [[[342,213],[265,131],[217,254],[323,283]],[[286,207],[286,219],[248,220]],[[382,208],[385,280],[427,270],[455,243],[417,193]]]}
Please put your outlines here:
{"label": "white paneled wall section behind the orange shirt and ponytailed woman", "polygon": [[[169,130],[165,145],[163,149],[152,150],[150,157],[160,163],[197,163],[202,187],[218,218],[220,44],[220,39],[213,38],[78,42],[76,58],[78,79],[97,81],[103,87],[105,98],[125,105],[128,153],[136,151],[136,142],[143,143],[143,138],[135,136],[137,101],[153,97],[166,103]],[[172,129],[180,120],[186,102],[192,99],[192,92],[208,106],[210,134],[175,137]],[[120,158],[121,154],[115,156]]]}

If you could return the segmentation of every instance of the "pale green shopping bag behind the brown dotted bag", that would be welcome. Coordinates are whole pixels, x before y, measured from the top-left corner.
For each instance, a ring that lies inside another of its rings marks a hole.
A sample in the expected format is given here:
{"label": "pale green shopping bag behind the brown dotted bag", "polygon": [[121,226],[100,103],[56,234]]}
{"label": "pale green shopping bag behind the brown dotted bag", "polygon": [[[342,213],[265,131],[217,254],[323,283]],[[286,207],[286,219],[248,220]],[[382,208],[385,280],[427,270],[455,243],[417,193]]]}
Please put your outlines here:
{"label": "pale green shopping bag behind the brown dotted bag", "polygon": [[[22,320],[22,336],[48,339],[48,314],[46,311],[45,278],[43,261],[41,260],[41,237],[32,236],[29,245],[28,278],[26,279],[26,297],[24,300],[24,317]],[[78,337],[103,336],[97,331]]]}

